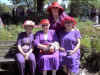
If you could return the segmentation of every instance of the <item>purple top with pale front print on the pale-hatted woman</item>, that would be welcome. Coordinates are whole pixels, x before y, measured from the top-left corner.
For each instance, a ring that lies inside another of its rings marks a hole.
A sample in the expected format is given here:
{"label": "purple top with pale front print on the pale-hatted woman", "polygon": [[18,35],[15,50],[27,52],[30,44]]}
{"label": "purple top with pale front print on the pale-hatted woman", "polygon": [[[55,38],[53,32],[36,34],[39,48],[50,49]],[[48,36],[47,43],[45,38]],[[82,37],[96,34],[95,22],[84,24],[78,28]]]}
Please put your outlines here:
{"label": "purple top with pale front print on the pale-hatted woman", "polygon": [[21,45],[24,52],[28,52],[32,48],[33,42],[34,42],[33,33],[27,36],[26,32],[21,32],[18,35],[17,45]]}

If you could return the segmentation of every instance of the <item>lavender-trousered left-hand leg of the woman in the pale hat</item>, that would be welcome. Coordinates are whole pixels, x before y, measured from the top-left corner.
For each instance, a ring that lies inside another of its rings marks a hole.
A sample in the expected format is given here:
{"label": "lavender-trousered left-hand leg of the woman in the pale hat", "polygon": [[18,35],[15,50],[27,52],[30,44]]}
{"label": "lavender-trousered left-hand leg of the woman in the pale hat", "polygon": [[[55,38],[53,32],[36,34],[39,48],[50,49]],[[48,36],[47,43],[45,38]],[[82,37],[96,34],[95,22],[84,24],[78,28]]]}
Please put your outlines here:
{"label": "lavender-trousered left-hand leg of the woman in the pale hat", "polygon": [[25,59],[24,56],[21,53],[16,54],[18,67],[20,69],[21,75],[24,75],[24,69],[25,69]]}

